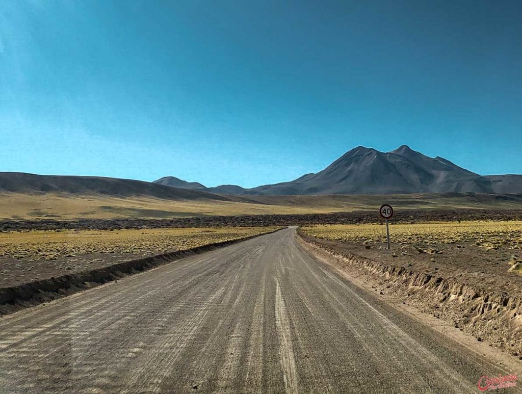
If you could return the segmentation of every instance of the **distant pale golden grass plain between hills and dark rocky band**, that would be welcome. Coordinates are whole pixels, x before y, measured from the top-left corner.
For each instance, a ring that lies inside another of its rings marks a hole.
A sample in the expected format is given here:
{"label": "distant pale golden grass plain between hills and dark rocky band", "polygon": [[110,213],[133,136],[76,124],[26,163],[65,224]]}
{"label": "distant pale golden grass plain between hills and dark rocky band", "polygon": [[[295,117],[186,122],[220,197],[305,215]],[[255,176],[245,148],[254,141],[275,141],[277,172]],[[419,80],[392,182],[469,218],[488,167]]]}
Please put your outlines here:
{"label": "distant pale golden grass plain between hills and dark rocky band", "polygon": [[162,199],[66,193],[0,193],[0,220],[171,219],[197,216],[303,214],[374,210],[384,201],[404,209],[519,209],[522,196],[495,195],[329,195],[231,196],[230,201]]}

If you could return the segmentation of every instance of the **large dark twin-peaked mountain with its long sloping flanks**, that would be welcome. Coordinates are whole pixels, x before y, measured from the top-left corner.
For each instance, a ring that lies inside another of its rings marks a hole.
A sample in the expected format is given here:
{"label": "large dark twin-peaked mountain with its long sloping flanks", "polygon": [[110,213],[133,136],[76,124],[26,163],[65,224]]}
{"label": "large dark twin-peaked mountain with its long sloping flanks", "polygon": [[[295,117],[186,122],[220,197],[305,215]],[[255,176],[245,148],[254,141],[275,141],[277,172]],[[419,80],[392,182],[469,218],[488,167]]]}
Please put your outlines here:
{"label": "large dark twin-peaked mountain with its long sloping flanks", "polygon": [[[159,182],[155,181],[155,182]],[[522,175],[482,176],[406,145],[391,152],[359,146],[318,173],[251,189],[207,189],[239,195],[522,193]]]}

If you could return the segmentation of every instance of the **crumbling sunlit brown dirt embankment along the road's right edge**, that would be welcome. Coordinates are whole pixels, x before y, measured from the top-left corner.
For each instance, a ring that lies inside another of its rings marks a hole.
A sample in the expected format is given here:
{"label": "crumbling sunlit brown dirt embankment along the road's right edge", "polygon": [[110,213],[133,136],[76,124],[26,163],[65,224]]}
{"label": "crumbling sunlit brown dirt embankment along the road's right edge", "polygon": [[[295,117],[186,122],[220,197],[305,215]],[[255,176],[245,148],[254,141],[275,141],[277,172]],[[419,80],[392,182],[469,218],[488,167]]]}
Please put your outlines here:
{"label": "crumbling sunlit brown dirt embankment along the road's right edge", "polygon": [[329,264],[358,277],[381,294],[391,294],[398,303],[446,320],[477,340],[522,360],[520,291],[507,293],[495,291],[490,286],[482,288],[477,283],[469,284],[465,274],[455,279],[398,267],[339,250],[335,244],[299,230],[298,235],[312,252],[326,253]]}

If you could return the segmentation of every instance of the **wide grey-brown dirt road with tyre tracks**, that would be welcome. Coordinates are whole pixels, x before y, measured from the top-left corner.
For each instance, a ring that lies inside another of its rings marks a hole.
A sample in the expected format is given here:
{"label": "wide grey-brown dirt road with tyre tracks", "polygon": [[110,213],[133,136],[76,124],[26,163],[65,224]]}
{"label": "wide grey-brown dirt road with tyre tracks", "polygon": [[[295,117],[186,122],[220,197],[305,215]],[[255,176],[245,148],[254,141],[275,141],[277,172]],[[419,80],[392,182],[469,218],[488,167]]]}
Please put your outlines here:
{"label": "wide grey-brown dirt road with tyre tracks", "polygon": [[482,375],[521,372],[341,279],[294,234],[0,319],[0,391],[477,392]]}

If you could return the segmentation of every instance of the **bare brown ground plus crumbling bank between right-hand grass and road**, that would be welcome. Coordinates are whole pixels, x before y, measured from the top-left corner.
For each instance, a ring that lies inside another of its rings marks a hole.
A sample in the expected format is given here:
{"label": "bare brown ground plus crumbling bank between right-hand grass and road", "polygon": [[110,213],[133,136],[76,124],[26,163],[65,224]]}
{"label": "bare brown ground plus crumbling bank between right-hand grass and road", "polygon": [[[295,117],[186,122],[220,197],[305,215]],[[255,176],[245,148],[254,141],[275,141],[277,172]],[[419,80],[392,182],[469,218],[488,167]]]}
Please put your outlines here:
{"label": "bare brown ground plus crumbling bank between right-hand grass and road", "polygon": [[329,241],[301,233],[331,264],[397,303],[447,321],[522,360],[522,275],[509,270],[520,250],[473,242],[414,245]]}

